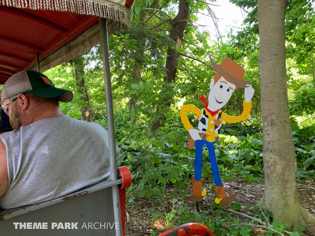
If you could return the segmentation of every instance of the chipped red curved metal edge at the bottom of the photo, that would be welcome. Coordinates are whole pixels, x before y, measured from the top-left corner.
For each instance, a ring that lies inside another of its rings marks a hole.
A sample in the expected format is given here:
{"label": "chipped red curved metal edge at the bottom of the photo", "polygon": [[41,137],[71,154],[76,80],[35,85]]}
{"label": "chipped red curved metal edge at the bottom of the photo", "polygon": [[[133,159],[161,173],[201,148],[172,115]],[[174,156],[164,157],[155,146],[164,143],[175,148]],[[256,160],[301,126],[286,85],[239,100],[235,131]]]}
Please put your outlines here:
{"label": "chipped red curved metal edge at the bottom of the photo", "polygon": [[171,229],[159,236],[215,236],[212,231],[200,223],[187,223]]}

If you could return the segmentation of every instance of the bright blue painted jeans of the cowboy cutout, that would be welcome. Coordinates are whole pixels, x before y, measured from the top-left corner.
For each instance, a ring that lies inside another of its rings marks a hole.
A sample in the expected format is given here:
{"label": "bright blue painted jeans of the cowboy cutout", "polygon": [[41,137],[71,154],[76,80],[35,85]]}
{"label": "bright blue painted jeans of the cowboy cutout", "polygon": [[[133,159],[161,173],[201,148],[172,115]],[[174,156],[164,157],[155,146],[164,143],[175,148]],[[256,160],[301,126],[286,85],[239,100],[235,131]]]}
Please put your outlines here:
{"label": "bright blue painted jeans of the cowboy cutout", "polygon": [[212,175],[213,179],[215,181],[215,185],[217,186],[222,186],[221,178],[220,178],[220,173],[219,173],[219,166],[216,162],[215,158],[215,148],[214,144],[215,142],[208,142],[205,140],[196,140],[196,156],[195,156],[195,161],[194,161],[194,167],[195,167],[195,179],[199,180],[201,179],[201,170],[202,170],[202,150],[203,150],[203,145],[206,144],[209,152],[209,159],[210,159],[210,165],[211,165],[211,170],[212,170]]}

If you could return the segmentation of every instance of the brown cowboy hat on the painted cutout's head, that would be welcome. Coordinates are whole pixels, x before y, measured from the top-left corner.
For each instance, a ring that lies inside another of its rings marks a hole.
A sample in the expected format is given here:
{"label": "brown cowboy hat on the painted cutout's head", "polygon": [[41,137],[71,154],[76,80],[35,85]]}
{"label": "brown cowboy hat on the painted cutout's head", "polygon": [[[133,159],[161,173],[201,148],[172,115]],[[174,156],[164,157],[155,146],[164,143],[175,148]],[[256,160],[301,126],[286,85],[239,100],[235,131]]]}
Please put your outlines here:
{"label": "brown cowboy hat on the painted cutout's head", "polygon": [[211,55],[209,55],[209,58],[213,69],[237,87],[247,88],[249,87],[248,85],[252,86],[251,82],[243,80],[245,70],[232,59],[226,58],[218,65],[214,62]]}

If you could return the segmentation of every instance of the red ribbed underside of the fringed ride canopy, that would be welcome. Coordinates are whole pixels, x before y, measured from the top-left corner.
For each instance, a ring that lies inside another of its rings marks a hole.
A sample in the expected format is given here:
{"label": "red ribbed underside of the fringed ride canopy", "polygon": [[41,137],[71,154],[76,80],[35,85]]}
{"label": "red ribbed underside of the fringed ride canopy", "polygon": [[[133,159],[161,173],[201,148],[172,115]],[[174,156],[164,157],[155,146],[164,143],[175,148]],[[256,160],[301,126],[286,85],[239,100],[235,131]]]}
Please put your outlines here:
{"label": "red ribbed underside of the fringed ride canopy", "polygon": [[98,23],[96,16],[0,6],[0,83]]}

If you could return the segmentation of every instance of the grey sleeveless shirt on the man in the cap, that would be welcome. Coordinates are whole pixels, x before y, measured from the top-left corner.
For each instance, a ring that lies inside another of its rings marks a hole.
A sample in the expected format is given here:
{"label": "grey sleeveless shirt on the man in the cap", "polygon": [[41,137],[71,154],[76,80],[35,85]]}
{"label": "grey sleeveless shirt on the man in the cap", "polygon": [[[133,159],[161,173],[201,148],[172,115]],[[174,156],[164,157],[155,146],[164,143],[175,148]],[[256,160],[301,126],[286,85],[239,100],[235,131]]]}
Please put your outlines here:
{"label": "grey sleeveless shirt on the man in the cap", "polygon": [[7,149],[9,176],[0,198],[3,209],[58,198],[110,176],[108,133],[99,124],[56,117],[0,138]]}

